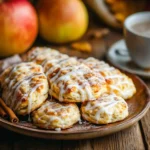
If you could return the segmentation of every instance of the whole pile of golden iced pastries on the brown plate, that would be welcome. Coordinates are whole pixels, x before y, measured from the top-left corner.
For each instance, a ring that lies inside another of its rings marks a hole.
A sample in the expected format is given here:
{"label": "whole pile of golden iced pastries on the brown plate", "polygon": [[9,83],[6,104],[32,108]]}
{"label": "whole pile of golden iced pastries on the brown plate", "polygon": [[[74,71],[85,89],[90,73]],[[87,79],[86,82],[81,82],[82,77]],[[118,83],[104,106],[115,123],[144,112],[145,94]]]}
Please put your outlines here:
{"label": "whole pile of golden iced pastries on the brown plate", "polygon": [[2,98],[17,115],[32,114],[44,129],[66,129],[82,119],[108,124],[128,116],[126,100],[136,88],[118,69],[95,58],[77,59],[35,47],[25,62],[0,77]]}

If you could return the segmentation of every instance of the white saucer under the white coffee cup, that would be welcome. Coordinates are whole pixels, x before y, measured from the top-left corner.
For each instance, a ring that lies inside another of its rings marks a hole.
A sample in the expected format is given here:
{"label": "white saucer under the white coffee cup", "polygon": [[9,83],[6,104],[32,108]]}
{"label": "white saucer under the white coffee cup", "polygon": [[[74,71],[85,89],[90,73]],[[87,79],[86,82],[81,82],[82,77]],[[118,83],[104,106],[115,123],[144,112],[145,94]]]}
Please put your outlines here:
{"label": "white saucer under the white coffee cup", "polygon": [[150,78],[150,69],[142,69],[132,62],[123,39],[117,41],[109,48],[107,60],[119,69],[137,74],[144,78]]}

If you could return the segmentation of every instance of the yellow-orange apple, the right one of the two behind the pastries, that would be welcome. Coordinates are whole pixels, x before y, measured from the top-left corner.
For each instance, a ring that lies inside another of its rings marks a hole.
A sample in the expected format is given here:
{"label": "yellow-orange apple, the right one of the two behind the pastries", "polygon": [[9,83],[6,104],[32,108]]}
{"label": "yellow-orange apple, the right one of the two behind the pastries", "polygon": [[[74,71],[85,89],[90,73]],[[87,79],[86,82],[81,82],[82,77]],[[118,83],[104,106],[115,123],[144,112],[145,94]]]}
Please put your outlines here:
{"label": "yellow-orange apple, the right one of the two behind the pastries", "polygon": [[81,0],[39,0],[39,34],[53,43],[79,39],[88,27],[88,13]]}

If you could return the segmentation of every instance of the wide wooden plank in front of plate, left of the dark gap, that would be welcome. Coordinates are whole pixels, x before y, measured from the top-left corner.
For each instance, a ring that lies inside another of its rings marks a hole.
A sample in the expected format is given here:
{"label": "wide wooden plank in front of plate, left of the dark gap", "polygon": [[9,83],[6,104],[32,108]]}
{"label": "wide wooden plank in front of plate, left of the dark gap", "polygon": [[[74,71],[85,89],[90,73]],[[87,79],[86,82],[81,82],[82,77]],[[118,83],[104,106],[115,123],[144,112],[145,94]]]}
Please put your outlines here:
{"label": "wide wooden plank in front of plate, left of the dark gap", "polygon": [[90,140],[55,141],[0,130],[0,150],[144,150],[139,124],[118,133]]}

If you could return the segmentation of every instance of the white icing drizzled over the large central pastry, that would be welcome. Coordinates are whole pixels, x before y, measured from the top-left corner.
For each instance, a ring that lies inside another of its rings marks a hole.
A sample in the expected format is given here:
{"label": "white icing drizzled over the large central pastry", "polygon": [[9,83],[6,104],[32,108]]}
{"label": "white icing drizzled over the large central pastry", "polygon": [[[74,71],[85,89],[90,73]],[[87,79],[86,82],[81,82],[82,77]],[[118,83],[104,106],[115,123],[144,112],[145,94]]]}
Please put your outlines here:
{"label": "white icing drizzled over the large central pastry", "polygon": [[[63,74],[63,72],[65,72],[65,74]],[[60,70],[51,79],[49,79],[51,87],[53,87],[54,83],[57,84],[60,89],[59,101],[63,101],[63,95],[72,88],[76,88],[76,92],[81,94],[80,100],[94,100],[95,97],[93,95],[91,85],[95,83],[104,83],[105,81],[99,74],[97,74],[97,76],[93,74],[92,77],[85,79],[84,75],[88,73],[92,72],[83,64],[60,68]],[[68,82],[70,83],[66,86],[65,84]]]}

